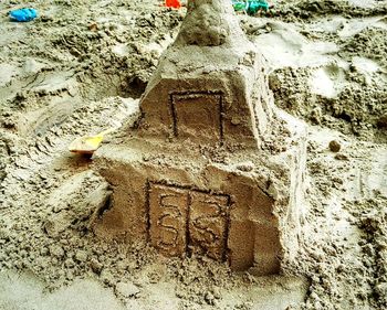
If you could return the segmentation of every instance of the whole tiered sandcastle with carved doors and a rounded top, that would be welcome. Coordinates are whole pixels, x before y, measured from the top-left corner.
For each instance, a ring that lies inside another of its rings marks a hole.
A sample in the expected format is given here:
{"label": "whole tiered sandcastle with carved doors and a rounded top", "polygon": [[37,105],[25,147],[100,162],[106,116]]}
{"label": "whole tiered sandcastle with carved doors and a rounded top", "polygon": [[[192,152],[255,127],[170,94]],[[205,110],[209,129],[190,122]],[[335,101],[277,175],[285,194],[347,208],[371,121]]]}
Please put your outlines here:
{"label": "whole tiered sandcastle with carved doors and a rounded top", "polygon": [[262,56],[229,0],[188,1],[139,119],[119,136],[94,156],[113,188],[98,236],[260,275],[296,250],[304,127],[273,105]]}

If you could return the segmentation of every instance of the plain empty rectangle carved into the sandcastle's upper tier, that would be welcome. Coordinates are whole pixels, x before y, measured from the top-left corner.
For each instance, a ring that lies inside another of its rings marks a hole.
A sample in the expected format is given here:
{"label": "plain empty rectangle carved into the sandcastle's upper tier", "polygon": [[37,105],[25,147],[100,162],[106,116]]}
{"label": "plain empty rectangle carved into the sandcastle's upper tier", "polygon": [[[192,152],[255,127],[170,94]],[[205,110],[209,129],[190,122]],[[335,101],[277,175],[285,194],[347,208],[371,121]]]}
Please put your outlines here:
{"label": "plain empty rectangle carved into the sandcastle's upper tier", "polygon": [[175,137],[213,142],[223,139],[220,93],[172,94],[171,114]]}

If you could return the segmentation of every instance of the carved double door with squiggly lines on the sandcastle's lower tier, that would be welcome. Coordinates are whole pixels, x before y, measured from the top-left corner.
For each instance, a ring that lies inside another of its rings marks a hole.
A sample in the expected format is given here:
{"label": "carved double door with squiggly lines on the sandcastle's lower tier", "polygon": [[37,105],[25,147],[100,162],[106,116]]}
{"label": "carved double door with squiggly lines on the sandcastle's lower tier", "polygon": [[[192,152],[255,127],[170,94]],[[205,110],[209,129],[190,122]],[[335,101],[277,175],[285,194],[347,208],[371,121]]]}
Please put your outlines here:
{"label": "carved double door with squiggly lines on the sandcastle's lower tier", "polygon": [[224,261],[230,226],[229,195],[148,182],[148,236],[167,256],[192,253]]}

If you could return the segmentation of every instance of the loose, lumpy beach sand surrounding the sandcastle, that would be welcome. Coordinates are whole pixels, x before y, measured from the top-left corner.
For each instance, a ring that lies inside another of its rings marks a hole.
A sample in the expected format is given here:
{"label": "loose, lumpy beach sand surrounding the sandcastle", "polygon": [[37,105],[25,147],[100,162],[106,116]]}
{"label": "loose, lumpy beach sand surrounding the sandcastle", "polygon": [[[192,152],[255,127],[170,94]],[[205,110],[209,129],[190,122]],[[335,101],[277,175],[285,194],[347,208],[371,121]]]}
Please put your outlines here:
{"label": "loose, lumpy beach sand surrounding the sandcastle", "polygon": [[[0,2],[0,309],[386,309],[386,1],[238,15],[275,105],[308,131],[301,246],[280,275],[95,236],[109,184],[67,146],[138,118],[186,14],[163,2]],[[39,18],[11,22],[22,7]]]}

